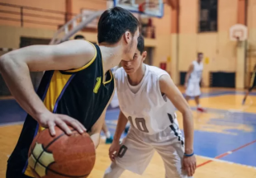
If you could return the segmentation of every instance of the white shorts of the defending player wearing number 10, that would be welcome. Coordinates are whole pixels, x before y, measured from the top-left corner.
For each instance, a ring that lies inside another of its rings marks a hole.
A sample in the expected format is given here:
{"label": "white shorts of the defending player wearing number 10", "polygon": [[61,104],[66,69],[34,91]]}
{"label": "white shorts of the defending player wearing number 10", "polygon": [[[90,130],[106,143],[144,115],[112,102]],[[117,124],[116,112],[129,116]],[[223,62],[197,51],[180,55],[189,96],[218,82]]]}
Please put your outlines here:
{"label": "white shorts of the defending player wearing number 10", "polygon": [[186,171],[182,169],[183,145],[183,136],[176,124],[154,135],[145,135],[130,128],[116,157],[116,164],[142,175],[156,150],[164,161],[166,177],[187,178]]}

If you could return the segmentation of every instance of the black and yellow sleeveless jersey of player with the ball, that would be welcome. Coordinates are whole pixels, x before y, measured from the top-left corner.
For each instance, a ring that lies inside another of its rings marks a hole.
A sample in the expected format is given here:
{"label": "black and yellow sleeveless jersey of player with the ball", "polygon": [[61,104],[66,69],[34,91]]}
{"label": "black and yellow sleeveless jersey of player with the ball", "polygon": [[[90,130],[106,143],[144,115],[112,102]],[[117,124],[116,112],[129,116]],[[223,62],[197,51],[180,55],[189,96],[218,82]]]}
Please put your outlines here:
{"label": "black and yellow sleeveless jersey of player with the ball", "polygon": [[[112,73],[109,70],[104,75],[101,51],[97,44],[92,45],[95,55],[88,64],[68,71],[45,72],[37,91],[48,110],[78,119],[88,131],[102,115],[114,91]],[[42,129],[31,115],[26,116],[17,146],[8,160],[12,171],[33,177],[27,167],[27,155],[33,138]]]}

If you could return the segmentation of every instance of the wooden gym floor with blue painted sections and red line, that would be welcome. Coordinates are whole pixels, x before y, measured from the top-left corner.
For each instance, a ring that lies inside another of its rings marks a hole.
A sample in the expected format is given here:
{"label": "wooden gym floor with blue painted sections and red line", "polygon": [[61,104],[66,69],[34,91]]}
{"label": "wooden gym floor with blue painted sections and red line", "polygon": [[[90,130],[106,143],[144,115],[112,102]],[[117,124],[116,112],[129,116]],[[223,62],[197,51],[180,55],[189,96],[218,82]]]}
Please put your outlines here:
{"label": "wooden gym floor with blue painted sections and red line", "polygon": [[[183,89],[181,89],[183,91]],[[241,105],[244,91],[230,89],[202,90],[201,105],[207,113],[197,113],[190,101],[194,115],[197,171],[195,178],[256,178],[256,92]],[[114,133],[118,109],[107,111],[107,124]],[[178,114],[183,129],[182,115]],[[25,113],[16,101],[0,100],[0,177],[5,177],[7,158],[17,143]],[[123,135],[124,137],[125,135]],[[90,178],[103,176],[110,165],[108,148],[103,140],[97,148],[97,162]],[[126,171],[122,178],[164,177],[161,157],[155,153],[143,176]]]}

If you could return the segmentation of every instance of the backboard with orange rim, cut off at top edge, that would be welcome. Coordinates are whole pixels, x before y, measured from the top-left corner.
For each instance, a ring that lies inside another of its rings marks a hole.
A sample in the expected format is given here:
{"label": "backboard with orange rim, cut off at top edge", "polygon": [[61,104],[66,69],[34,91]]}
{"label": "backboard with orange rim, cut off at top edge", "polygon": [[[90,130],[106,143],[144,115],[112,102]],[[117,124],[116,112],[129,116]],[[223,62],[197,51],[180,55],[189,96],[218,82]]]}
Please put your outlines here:
{"label": "backboard with orange rim, cut off at top edge", "polygon": [[122,7],[146,16],[164,16],[163,0],[114,0],[114,7]]}

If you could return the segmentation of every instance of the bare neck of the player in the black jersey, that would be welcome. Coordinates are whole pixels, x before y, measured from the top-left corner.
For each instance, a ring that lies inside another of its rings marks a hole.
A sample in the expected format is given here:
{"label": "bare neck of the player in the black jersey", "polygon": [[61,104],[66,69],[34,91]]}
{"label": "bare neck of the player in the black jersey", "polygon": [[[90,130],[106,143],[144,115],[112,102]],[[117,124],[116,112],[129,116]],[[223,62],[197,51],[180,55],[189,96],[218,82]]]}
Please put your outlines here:
{"label": "bare neck of the player in the black jersey", "polygon": [[99,44],[102,52],[104,73],[117,66],[121,61],[122,47],[119,44]]}

